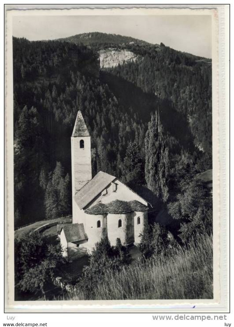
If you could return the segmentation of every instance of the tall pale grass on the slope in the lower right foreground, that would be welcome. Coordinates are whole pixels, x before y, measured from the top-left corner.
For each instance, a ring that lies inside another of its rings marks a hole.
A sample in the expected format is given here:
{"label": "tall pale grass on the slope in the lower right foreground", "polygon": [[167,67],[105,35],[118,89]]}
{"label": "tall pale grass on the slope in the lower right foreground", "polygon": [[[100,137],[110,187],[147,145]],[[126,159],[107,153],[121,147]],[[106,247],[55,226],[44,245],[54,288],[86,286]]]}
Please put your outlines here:
{"label": "tall pale grass on the slope in the lower right foreground", "polygon": [[212,299],[212,237],[197,236],[165,255],[111,272],[93,289],[75,286],[67,300]]}

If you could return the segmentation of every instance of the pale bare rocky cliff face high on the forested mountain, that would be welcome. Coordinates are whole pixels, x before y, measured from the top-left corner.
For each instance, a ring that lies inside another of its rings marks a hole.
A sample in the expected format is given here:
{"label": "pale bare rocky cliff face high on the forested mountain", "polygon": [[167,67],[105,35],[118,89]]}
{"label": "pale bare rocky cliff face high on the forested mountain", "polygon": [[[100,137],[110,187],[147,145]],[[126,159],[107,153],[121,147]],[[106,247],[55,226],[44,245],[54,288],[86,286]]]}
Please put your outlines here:
{"label": "pale bare rocky cliff face high on the forested mountain", "polygon": [[99,52],[100,68],[115,67],[118,64],[123,64],[125,61],[136,60],[137,56],[128,50],[120,49],[105,49]]}

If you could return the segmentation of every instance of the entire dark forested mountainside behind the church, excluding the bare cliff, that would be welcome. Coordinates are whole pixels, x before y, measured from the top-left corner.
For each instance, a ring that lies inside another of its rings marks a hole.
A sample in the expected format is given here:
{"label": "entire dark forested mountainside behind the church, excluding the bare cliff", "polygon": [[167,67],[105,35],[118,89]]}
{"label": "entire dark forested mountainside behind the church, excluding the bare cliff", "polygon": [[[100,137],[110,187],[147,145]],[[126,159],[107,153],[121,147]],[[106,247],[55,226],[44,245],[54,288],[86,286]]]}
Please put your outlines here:
{"label": "entire dark forested mountainside behind the church, excluding the bare cliff", "polygon": [[[91,134],[93,176],[102,170],[133,188],[147,186],[166,203],[212,168],[208,60],[119,35],[62,41],[13,38],[15,226],[71,213],[78,109]],[[113,45],[138,58],[100,71],[96,50]],[[148,173],[152,153],[161,171],[157,190]]]}

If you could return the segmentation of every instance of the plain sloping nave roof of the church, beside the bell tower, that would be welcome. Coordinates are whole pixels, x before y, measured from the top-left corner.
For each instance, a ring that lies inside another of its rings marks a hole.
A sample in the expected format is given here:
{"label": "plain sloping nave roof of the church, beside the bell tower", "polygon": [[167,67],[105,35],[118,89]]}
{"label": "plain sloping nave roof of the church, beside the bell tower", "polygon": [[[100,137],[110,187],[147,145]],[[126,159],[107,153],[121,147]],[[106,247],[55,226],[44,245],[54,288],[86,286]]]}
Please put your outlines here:
{"label": "plain sloping nave roof of the church, beside the bell tower", "polygon": [[83,209],[115,179],[116,177],[99,171],[91,181],[75,194],[75,202],[78,207]]}

